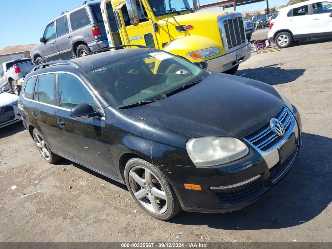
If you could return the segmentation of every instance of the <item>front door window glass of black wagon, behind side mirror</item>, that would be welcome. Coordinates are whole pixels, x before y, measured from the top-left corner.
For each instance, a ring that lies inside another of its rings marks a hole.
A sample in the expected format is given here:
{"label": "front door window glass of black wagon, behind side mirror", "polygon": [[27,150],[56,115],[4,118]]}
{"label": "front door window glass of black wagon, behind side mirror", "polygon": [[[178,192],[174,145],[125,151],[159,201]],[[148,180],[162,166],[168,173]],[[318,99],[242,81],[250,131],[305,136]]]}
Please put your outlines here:
{"label": "front door window glass of black wagon, behind side mirror", "polygon": [[82,103],[88,103],[95,109],[94,99],[82,82],[75,76],[59,73],[60,106],[71,109]]}

